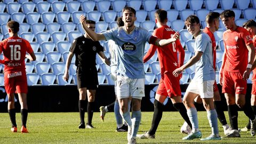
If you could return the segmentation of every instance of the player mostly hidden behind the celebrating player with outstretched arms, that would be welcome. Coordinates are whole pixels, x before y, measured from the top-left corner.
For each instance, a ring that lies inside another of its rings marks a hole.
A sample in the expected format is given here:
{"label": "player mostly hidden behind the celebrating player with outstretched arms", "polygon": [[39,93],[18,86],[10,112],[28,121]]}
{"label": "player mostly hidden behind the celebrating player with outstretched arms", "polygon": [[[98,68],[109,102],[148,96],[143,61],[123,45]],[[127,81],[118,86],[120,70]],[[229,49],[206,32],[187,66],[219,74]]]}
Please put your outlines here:
{"label": "player mostly hidden behind the celebrating player with outstretched arms", "polygon": [[[122,20],[122,17],[117,18],[116,21],[118,27],[122,27],[124,26],[124,22]],[[110,51],[110,70],[111,70],[111,79],[113,79],[113,81],[115,81],[115,93],[116,93],[116,70],[117,70],[117,50],[118,49],[118,45],[115,44],[114,41],[109,40],[108,41],[108,47],[109,47],[109,51]],[[128,103],[128,109],[130,111],[130,106],[131,106],[131,101],[129,101],[130,103]],[[100,118],[101,121],[104,121],[104,117],[106,115],[106,113],[113,109],[114,106],[114,113],[115,113],[115,117],[116,117],[116,132],[127,132],[128,131],[128,125],[127,123],[124,121],[123,123],[123,118],[120,114],[119,111],[119,104],[118,104],[118,100],[116,98],[116,100],[113,103],[110,103],[108,106],[101,106],[100,107]]]}

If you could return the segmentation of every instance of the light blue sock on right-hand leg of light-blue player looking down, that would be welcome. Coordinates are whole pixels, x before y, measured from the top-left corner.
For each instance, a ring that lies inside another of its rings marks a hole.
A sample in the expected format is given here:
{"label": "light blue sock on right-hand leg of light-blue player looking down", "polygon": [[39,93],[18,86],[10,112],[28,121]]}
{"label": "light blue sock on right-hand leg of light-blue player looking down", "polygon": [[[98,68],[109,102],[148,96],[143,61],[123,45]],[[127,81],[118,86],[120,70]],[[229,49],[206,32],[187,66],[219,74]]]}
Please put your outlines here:
{"label": "light blue sock on right-hand leg of light-blue player looking down", "polygon": [[207,111],[207,117],[209,120],[209,124],[212,128],[212,134],[219,137],[219,129],[218,129],[218,120],[217,120],[217,112],[216,110]]}

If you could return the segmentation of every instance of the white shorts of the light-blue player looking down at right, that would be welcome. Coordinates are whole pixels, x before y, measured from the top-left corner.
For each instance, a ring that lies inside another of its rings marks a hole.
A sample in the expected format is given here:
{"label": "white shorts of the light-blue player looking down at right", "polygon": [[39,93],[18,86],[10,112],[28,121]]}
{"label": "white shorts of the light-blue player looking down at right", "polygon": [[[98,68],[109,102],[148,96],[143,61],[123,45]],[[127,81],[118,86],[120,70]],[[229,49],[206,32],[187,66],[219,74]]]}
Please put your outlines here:
{"label": "white shorts of the light-blue player looking down at right", "polygon": [[213,98],[213,81],[196,81],[192,79],[189,83],[187,92],[199,94],[201,98]]}

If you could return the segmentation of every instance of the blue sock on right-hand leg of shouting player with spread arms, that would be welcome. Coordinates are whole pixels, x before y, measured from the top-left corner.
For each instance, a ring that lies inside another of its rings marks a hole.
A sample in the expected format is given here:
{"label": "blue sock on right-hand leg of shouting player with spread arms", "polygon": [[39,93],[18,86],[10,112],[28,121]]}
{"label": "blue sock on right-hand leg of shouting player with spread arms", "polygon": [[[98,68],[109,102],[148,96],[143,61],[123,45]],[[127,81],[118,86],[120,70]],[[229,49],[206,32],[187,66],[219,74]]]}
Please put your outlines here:
{"label": "blue sock on right-hand leg of shouting player with spread arms", "polygon": [[132,137],[136,138],[141,121],[141,111],[132,111]]}

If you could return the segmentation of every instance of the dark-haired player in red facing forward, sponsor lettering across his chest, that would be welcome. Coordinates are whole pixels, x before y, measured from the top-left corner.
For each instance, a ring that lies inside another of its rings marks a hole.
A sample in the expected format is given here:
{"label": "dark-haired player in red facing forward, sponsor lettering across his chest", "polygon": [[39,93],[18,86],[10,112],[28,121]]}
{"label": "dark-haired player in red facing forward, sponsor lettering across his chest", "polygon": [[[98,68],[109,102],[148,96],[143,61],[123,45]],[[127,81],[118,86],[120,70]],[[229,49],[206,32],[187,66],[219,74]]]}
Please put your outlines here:
{"label": "dark-haired player in red facing forward, sponsor lettering across his chest", "polygon": [[256,118],[249,103],[245,101],[247,79],[250,76],[255,52],[250,33],[236,25],[235,13],[225,10],[220,14],[222,23],[227,30],[223,33],[225,51],[220,70],[222,93],[228,104],[228,115],[231,132],[227,137],[241,137],[238,131],[237,106],[251,120],[251,135],[256,132]]}

